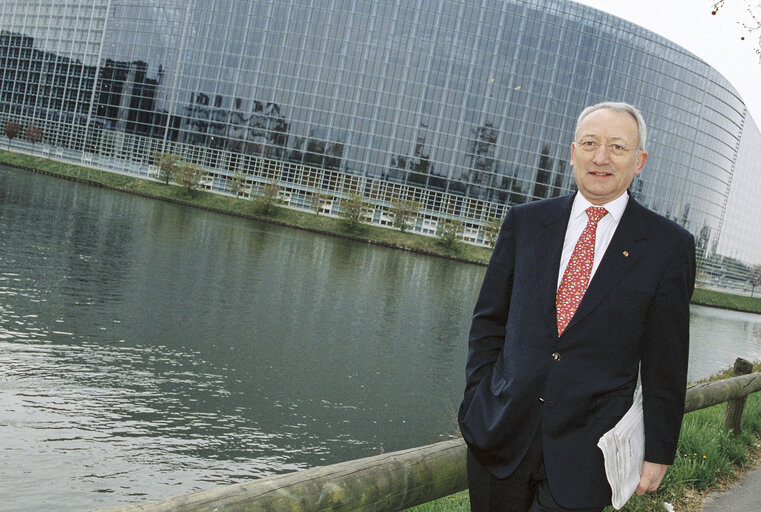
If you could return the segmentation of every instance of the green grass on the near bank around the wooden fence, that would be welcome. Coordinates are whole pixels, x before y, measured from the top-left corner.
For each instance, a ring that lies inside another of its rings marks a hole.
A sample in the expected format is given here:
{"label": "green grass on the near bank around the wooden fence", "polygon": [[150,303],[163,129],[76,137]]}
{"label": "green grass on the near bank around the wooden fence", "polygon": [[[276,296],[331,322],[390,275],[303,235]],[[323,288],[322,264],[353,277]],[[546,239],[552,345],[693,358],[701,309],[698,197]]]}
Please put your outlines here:
{"label": "green grass on the near bank around the wooden fence", "polygon": [[[756,364],[754,371],[761,371]],[[727,378],[730,371],[712,377]],[[661,512],[671,503],[678,512],[700,510],[702,496],[722,490],[736,481],[761,457],[761,393],[748,397],[743,433],[734,437],[724,429],[726,404],[694,411],[684,416],[676,460],[666,473],[661,488],[645,496],[634,496],[624,512]],[[470,510],[468,493],[461,492],[408,509],[411,512],[465,512]],[[605,512],[613,512],[612,507]]]}

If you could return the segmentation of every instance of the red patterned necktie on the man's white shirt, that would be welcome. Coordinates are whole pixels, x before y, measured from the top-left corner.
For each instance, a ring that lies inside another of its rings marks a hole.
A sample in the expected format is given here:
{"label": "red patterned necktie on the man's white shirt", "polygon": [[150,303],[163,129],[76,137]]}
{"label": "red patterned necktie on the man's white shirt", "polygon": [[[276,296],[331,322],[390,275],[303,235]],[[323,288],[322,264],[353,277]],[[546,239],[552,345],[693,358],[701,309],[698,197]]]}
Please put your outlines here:
{"label": "red patterned necktie on the man's white shirt", "polygon": [[558,288],[558,336],[563,334],[563,330],[573,318],[573,314],[587,290],[589,276],[592,274],[592,263],[595,258],[597,223],[605,217],[608,210],[599,206],[590,206],[586,212],[587,217],[589,217],[587,225],[576,242],[576,247],[573,248],[573,254],[568,260],[568,266]]}

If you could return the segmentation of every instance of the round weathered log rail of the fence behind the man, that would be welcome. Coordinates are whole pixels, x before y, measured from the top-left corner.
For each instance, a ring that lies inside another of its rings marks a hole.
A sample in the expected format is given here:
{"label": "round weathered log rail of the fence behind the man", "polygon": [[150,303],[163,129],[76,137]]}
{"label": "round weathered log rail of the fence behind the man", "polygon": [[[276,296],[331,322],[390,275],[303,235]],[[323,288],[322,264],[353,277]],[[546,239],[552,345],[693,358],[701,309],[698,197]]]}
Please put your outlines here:
{"label": "round weathered log rail of the fence behind the man", "polygon": [[[737,367],[737,363],[736,363]],[[761,372],[687,388],[685,412],[744,401],[761,391]],[[729,408],[728,408],[729,409]],[[740,421],[742,421],[740,414]],[[730,426],[733,430],[734,426]],[[420,448],[275,475],[113,509],[114,512],[396,511],[465,490],[465,443]]]}

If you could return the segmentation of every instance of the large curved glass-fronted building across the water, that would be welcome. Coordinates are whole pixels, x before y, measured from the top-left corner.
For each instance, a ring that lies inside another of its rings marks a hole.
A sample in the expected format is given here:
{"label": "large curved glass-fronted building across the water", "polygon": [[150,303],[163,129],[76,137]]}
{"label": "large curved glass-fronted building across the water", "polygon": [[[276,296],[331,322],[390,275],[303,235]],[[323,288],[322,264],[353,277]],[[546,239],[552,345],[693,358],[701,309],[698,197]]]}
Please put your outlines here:
{"label": "large curved glass-fronted building across the water", "polygon": [[761,263],[761,134],[685,49],[566,0],[2,0],[9,146],[136,175],[156,153],[208,190],[368,222],[419,204],[435,234],[574,190],[580,110],[637,105],[650,159],[631,194],[695,235],[699,281],[749,289]]}

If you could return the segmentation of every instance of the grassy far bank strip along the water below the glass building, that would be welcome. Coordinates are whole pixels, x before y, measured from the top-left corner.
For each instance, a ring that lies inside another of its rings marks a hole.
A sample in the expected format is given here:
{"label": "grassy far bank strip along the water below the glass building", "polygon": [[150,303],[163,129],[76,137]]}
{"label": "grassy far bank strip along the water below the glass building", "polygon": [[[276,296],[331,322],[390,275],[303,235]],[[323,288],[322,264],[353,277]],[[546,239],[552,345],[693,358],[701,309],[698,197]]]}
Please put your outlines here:
{"label": "grassy far bank strip along the water below the glass building", "polygon": [[[189,196],[182,187],[166,185],[157,180],[142,179],[23,153],[0,150],[0,164],[225,215],[474,265],[486,265],[491,256],[491,249],[485,247],[461,242],[447,244],[439,238],[368,224],[351,226],[337,217],[316,215],[292,208],[274,206],[264,209],[259,207],[255,200],[238,199],[223,194],[198,191],[193,196]],[[734,311],[761,313],[761,298],[733,295],[705,288],[695,290],[692,303]]]}

